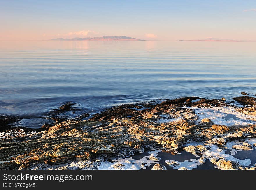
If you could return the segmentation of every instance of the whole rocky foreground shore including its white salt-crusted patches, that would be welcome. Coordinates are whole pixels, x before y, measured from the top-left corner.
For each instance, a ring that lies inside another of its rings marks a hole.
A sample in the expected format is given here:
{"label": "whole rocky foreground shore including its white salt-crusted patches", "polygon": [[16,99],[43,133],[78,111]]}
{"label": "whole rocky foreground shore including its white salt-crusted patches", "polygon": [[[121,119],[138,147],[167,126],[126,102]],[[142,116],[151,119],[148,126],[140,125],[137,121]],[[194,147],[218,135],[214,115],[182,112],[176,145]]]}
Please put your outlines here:
{"label": "whole rocky foreground shore including its white salt-crusted patches", "polygon": [[[159,164],[159,151],[181,149],[198,156],[191,161],[195,165],[209,160],[219,169],[255,169],[249,159],[225,156],[219,148],[256,150],[256,98],[233,99],[182,97],[160,104],[126,104],[88,120],[56,121],[37,130],[10,126],[16,119],[3,118],[0,169],[128,169],[127,164],[135,169],[150,165],[166,169]],[[153,151],[144,160],[131,161],[134,153],[148,150]],[[174,169],[191,169],[185,161],[165,163]]]}

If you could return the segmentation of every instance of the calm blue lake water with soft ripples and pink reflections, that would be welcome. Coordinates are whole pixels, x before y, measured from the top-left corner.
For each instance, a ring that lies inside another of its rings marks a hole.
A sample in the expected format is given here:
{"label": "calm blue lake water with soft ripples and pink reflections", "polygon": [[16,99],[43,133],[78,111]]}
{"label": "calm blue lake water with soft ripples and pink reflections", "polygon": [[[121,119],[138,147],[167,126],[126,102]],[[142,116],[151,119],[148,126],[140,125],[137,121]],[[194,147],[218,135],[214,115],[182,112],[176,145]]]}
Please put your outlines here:
{"label": "calm blue lake water with soft ripples and pink reflections", "polygon": [[181,96],[256,94],[255,42],[1,41],[0,116],[37,128],[65,102],[77,117]]}

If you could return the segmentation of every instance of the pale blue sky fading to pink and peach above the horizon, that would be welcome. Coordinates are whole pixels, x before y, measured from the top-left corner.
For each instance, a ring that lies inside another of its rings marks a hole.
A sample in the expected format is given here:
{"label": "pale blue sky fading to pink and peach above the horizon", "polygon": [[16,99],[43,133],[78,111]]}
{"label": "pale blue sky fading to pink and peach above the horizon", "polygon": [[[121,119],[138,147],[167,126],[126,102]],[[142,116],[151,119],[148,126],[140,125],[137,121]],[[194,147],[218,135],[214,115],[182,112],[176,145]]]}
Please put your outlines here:
{"label": "pale blue sky fading to pink and peach above the horizon", "polygon": [[255,0],[1,0],[0,40],[129,36],[256,41]]}

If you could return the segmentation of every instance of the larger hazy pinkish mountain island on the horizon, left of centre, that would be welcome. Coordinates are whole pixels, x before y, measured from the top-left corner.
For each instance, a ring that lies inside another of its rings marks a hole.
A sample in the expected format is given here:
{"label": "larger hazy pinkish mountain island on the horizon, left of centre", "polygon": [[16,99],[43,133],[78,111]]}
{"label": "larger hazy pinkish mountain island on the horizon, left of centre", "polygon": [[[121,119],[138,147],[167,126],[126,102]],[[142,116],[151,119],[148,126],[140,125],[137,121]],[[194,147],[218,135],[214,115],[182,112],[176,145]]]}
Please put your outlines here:
{"label": "larger hazy pinkish mountain island on the horizon, left of centre", "polygon": [[142,39],[131,38],[127,36],[102,36],[102,37],[86,37],[86,38],[54,38],[50,40],[59,41],[145,41]]}

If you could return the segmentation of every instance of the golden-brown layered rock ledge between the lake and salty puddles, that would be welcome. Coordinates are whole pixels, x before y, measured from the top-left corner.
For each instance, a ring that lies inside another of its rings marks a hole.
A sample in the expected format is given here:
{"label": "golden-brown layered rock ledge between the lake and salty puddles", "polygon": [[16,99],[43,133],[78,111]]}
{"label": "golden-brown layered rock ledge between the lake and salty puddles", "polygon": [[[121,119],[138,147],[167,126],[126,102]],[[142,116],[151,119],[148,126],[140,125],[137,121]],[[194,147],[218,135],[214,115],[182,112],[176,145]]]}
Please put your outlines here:
{"label": "golden-brown layered rock ledge between the lake and salty puddles", "polygon": [[[187,99],[200,100],[185,103]],[[233,105],[234,109],[252,115],[254,111],[251,108],[254,108],[255,100],[246,96],[241,100],[251,103],[252,106],[238,108]],[[48,131],[22,127],[4,128],[0,132],[0,169],[30,169],[36,164],[61,164],[69,160],[95,161],[98,157],[123,158],[132,155],[135,150],[143,152],[145,148],[177,150],[191,141],[208,141],[215,144],[224,143],[225,138],[256,136],[255,124],[211,126],[211,122],[198,123],[198,115],[191,107],[231,106],[218,99],[182,97],[156,105],[143,104],[147,107],[143,110],[133,109],[135,106],[135,104],[115,106],[92,115],[88,121],[65,120],[49,126]],[[127,118],[127,115],[132,117]],[[170,118],[182,117],[182,119],[159,122],[163,115]],[[248,145],[243,144],[243,146]],[[197,149],[193,150],[196,152]],[[212,161],[218,162],[218,160]]]}

